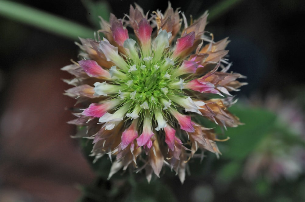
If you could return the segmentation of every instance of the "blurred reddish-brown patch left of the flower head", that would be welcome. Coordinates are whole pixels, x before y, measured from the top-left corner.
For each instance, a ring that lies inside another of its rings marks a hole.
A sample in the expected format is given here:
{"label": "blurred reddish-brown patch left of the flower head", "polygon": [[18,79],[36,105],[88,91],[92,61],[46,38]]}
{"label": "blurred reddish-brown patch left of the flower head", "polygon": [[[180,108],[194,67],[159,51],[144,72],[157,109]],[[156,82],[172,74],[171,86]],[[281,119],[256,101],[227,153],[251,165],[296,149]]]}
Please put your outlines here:
{"label": "blurred reddish-brown patch left of the flower head", "polygon": [[0,201],[76,201],[94,179],[66,123],[74,100],[63,95],[69,75],[59,68],[69,63],[51,53],[17,64],[0,125]]}

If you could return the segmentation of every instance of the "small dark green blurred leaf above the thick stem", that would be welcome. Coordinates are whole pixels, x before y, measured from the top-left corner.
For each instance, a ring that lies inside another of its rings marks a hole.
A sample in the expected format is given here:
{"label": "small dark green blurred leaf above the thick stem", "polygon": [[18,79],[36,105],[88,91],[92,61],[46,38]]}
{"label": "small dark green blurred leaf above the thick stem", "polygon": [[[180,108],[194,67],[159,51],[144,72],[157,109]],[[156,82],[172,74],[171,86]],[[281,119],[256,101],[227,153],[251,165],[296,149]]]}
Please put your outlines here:
{"label": "small dark green blurred leaf above the thick stem", "polygon": [[91,0],[82,0],[84,6],[88,11],[88,18],[90,22],[96,27],[100,28],[100,17],[108,21],[110,16],[110,6],[106,1],[93,2]]}

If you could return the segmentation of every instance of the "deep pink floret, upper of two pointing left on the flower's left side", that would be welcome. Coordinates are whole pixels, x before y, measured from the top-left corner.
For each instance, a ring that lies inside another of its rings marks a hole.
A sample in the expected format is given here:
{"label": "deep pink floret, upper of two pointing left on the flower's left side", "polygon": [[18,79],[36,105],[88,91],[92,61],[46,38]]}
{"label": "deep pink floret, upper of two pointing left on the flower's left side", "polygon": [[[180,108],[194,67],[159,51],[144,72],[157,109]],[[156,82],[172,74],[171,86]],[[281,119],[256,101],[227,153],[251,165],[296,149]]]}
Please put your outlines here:
{"label": "deep pink floret, upper of two pointing left on the flower's left side", "polygon": [[104,70],[94,60],[81,60],[78,61],[79,65],[84,69],[89,77],[106,77],[110,78],[110,74],[107,70]]}

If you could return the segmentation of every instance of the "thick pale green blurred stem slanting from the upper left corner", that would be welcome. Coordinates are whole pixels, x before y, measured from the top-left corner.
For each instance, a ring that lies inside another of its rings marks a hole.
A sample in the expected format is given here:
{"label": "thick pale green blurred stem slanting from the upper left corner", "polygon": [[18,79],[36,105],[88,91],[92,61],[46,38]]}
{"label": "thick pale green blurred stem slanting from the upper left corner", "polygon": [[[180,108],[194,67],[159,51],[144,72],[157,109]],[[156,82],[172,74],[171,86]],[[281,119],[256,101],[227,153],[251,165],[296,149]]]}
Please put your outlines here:
{"label": "thick pale green blurred stem slanting from the upper left corner", "polygon": [[93,37],[94,31],[61,17],[16,2],[0,0],[0,15],[72,40]]}

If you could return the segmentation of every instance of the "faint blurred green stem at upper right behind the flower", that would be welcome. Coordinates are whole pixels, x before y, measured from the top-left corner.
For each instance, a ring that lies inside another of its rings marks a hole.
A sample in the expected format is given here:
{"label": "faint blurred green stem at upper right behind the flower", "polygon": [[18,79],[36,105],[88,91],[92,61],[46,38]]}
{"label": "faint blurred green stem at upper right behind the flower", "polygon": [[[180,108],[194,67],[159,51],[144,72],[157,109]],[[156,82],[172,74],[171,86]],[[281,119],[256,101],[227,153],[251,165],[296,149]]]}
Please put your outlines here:
{"label": "faint blurred green stem at upper right behind the flower", "polygon": [[231,9],[235,4],[241,2],[241,0],[224,0],[221,1],[215,5],[213,5],[209,9],[209,21],[213,21],[220,15],[223,15],[224,13],[228,12],[229,9]]}

